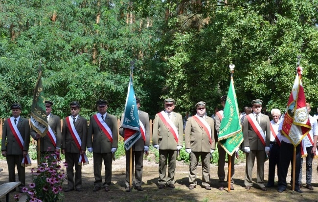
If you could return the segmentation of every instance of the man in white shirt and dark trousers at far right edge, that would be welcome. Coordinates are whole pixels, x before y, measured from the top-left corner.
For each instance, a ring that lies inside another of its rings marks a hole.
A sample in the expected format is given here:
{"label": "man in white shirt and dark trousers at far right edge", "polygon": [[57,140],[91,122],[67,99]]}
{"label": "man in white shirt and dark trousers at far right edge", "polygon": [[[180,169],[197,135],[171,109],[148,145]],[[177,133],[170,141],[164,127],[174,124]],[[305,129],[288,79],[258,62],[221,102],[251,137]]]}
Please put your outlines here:
{"label": "man in white shirt and dark trousers at far right edge", "polygon": [[[310,104],[306,103],[307,111],[310,112]],[[306,188],[309,190],[314,190],[311,186],[311,179],[313,173],[313,158],[316,154],[317,150],[317,139],[318,139],[318,124],[317,119],[309,115],[309,121],[311,125],[311,130],[309,131],[308,135],[306,135],[302,141],[304,141],[304,145],[306,147],[307,156],[306,156]],[[298,179],[299,188],[302,186],[301,184],[301,169],[302,169],[302,161],[300,163],[300,173]]]}

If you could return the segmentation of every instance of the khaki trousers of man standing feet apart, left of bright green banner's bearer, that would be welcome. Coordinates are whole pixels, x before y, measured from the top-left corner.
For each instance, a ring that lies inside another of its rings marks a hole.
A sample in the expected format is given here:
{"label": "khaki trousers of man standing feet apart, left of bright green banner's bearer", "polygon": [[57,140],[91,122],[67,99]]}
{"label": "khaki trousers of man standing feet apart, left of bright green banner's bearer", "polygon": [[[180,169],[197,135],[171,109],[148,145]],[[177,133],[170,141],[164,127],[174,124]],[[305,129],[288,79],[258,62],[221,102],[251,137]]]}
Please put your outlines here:
{"label": "khaki trousers of man standing feet apart, left of bright green banner's bearer", "polygon": [[189,183],[196,186],[197,183],[197,167],[199,157],[202,162],[202,186],[210,186],[210,153],[209,152],[191,152],[190,153],[190,169]]}

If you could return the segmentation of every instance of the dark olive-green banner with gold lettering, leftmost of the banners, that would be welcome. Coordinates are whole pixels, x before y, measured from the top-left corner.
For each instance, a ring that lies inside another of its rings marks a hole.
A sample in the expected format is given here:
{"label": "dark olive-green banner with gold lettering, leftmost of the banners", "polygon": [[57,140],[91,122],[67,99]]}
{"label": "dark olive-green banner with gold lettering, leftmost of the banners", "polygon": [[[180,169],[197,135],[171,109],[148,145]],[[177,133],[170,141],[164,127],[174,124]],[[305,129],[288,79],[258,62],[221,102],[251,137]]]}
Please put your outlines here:
{"label": "dark olive-green banner with gold lettering, leftmost of the banners", "polygon": [[33,93],[30,121],[32,128],[44,137],[48,131],[48,123],[46,118],[45,97],[41,75],[42,72],[40,71]]}

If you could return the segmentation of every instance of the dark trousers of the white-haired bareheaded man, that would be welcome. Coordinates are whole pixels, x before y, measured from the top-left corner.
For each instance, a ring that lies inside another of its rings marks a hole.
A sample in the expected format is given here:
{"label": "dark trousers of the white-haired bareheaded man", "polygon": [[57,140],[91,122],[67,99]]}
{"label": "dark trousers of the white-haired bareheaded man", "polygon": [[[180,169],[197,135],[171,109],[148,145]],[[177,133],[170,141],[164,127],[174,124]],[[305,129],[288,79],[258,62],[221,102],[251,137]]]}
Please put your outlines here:
{"label": "dark trousers of the white-haired bareheaded man", "polygon": [[275,180],[275,168],[277,166],[277,176],[279,173],[279,151],[280,146],[277,142],[271,142],[270,144],[270,156],[269,156],[269,166],[268,166],[268,182],[267,186],[273,186]]}

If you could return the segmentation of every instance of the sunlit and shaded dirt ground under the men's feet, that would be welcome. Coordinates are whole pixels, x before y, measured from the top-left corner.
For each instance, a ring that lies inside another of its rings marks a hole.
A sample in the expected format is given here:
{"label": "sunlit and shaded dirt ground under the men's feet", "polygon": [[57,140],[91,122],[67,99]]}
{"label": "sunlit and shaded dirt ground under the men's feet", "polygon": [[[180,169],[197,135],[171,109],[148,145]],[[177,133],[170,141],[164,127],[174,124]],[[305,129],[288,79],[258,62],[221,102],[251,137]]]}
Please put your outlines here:
{"label": "sunlit and shaded dirt ground under the men's feet", "polygon": [[[116,159],[113,162],[113,178],[111,191],[105,192],[100,190],[98,192],[93,192],[93,160],[89,159],[90,163],[83,166],[82,168],[82,192],[67,192],[64,193],[65,202],[265,202],[265,201],[276,201],[276,202],[317,202],[318,201],[318,171],[316,170],[318,159],[313,161],[313,180],[312,186],[313,191],[306,188],[302,188],[303,194],[299,194],[291,191],[291,186],[289,185],[287,190],[283,193],[277,192],[277,187],[269,188],[267,192],[261,191],[256,184],[250,190],[246,190],[244,186],[244,174],[245,174],[245,163],[235,165],[235,190],[227,192],[227,188],[224,191],[218,190],[218,178],[217,178],[217,166],[211,165],[210,176],[211,176],[211,190],[205,190],[201,186],[197,186],[193,190],[188,189],[188,169],[189,166],[182,162],[178,162],[176,168],[176,188],[171,189],[166,187],[164,189],[157,188],[158,181],[158,164],[154,161],[148,161],[144,159],[143,167],[143,185],[144,191],[125,192],[125,157]],[[36,165],[36,161],[32,161],[32,165]],[[227,165],[226,165],[227,166]],[[34,166],[29,166],[26,168],[26,184],[31,182],[30,170]],[[7,182],[8,168],[6,161],[0,160],[0,168],[3,171],[0,172],[0,184]],[[268,179],[268,161],[265,163],[265,180]],[[226,168],[227,170],[227,168]],[[305,184],[305,162],[303,163],[303,184]],[[198,179],[202,178],[201,166],[198,167]],[[103,176],[105,173],[102,173]],[[18,179],[18,176],[17,176]],[[275,182],[277,182],[277,177]],[[253,181],[256,181],[256,161],[253,169]],[[290,181],[290,172],[287,178]],[[201,181],[198,180],[200,183]],[[67,182],[64,182],[63,188],[67,187]],[[10,202],[14,202],[13,196],[18,194],[18,191],[10,194]],[[25,193],[23,193],[25,195]],[[0,199],[5,201],[4,197]]]}

